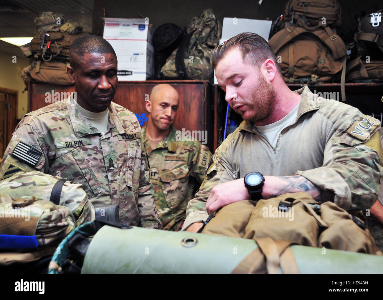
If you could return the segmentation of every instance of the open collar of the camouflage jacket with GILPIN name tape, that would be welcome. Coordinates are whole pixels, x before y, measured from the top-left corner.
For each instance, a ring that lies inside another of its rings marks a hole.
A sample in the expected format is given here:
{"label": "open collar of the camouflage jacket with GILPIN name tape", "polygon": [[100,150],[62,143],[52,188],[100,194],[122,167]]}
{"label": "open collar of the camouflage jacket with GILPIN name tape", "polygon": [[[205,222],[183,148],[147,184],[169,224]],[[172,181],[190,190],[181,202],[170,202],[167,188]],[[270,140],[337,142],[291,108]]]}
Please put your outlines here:
{"label": "open collar of the camouflage jacket with GILPIN name tape", "polygon": [[[81,138],[82,136],[88,134],[100,134],[100,131],[98,131],[97,128],[93,127],[92,124],[82,115],[80,110],[77,108],[77,105],[74,102],[73,93],[68,99],[69,100],[67,101],[67,109],[69,113],[69,118],[72,123],[73,131],[76,134],[77,138]],[[108,131],[106,133],[111,133],[111,136],[125,133],[122,124],[123,121],[118,115],[115,103],[111,102],[109,105],[108,113]]]}

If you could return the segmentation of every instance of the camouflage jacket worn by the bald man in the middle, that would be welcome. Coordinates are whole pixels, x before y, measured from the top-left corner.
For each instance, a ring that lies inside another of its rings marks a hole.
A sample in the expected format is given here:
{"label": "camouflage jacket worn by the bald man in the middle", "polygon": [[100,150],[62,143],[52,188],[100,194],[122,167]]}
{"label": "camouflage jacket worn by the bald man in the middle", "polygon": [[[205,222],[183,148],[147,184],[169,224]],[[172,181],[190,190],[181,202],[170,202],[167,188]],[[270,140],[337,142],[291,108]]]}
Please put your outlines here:
{"label": "camouflage jacket worn by the bald man in the middle", "polygon": [[178,231],[186,218],[195,180],[199,186],[205,177],[211,152],[199,141],[177,141],[173,126],[167,137],[152,149],[145,132],[146,126],[141,133],[149,156],[155,205],[164,229]]}

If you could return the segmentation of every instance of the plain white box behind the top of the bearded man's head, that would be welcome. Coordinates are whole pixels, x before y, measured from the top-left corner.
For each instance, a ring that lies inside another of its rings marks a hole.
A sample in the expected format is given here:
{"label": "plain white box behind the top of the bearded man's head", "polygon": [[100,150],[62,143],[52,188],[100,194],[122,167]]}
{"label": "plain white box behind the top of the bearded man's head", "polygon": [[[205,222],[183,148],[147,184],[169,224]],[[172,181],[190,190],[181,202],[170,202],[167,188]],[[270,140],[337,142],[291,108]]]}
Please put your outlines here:
{"label": "plain white box behind the top of the bearded man's head", "polygon": [[[242,32],[252,32],[259,34],[268,41],[272,21],[252,20],[239,18],[223,18],[222,38],[219,44],[226,42],[228,39]],[[214,70],[214,84],[218,84]]]}

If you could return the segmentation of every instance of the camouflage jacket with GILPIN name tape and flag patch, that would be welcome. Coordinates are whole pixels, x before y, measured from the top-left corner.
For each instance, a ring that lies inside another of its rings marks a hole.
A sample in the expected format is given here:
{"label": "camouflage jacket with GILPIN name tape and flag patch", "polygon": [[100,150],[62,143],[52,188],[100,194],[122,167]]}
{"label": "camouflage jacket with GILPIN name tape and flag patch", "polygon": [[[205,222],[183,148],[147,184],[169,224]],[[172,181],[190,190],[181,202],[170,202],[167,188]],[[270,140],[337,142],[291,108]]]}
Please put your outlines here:
{"label": "camouflage jacket with GILPIN name tape and flag patch", "polygon": [[0,177],[41,172],[79,182],[93,205],[118,204],[119,221],[162,228],[136,116],[111,102],[101,134],[73,100],[24,116],[5,152]]}

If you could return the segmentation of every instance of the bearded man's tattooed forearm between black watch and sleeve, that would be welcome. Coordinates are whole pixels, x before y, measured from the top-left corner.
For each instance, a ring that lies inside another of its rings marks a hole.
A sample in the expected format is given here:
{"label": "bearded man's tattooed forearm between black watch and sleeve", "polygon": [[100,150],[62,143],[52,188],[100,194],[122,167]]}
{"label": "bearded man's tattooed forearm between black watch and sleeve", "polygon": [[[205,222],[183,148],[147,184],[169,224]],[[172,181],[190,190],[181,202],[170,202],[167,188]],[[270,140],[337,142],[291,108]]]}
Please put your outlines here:
{"label": "bearded man's tattooed forearm between black watch and sleeve", "polygon": [[314,185],[310,180],[303,176],[294,175],[275,177],[278,177],[280,181],[278,181],[278,186],[275,187],[275,195],[272,195],[271,198],[283,195],[285,193],[305,192],[309,193],[314,198],[314,200],[319,203],[326,201],[334,202],[334,193],[319,189],[319,187]]}

